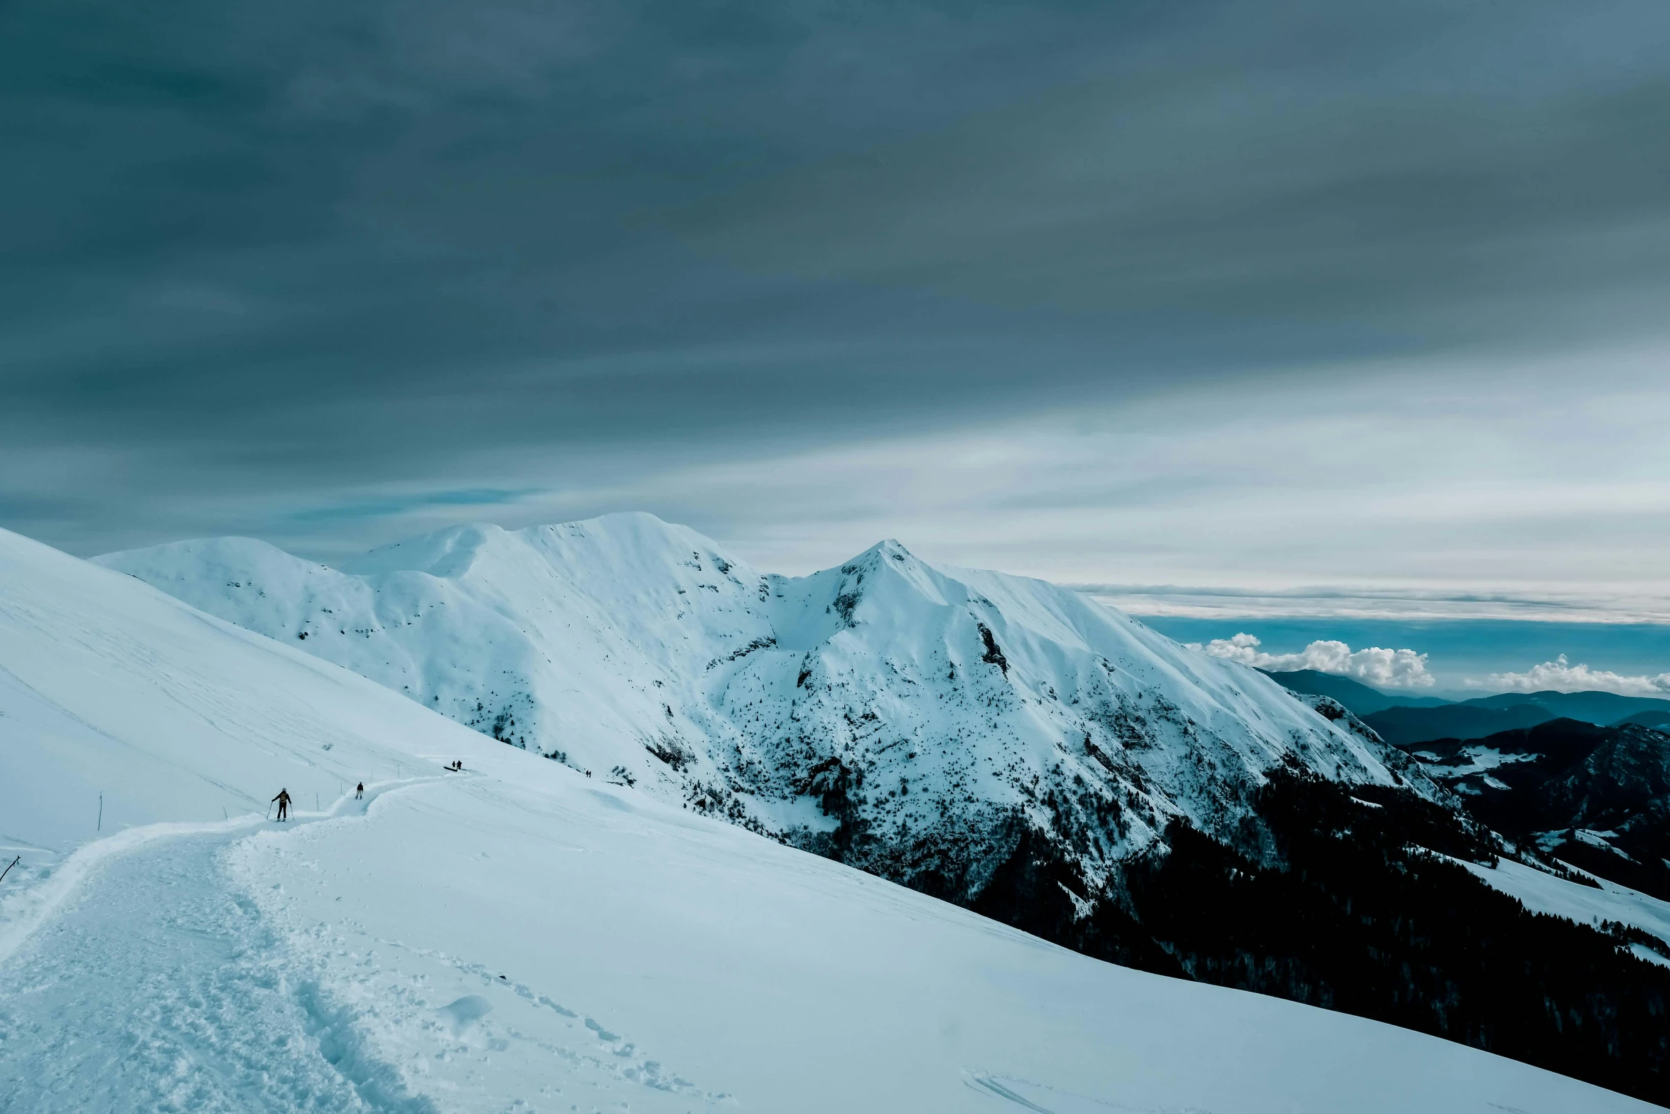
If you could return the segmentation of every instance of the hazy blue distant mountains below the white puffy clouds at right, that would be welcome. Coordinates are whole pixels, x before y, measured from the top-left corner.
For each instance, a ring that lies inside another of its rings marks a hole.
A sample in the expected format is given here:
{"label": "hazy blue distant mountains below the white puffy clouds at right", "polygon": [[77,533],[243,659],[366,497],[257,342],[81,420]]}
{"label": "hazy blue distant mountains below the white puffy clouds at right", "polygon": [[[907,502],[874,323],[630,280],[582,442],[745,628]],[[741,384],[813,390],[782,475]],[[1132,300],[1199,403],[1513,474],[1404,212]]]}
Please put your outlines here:
{"label": "hazy blue distant mountains below the white puffy clouds at right", "polygon": [[1394,747],[1436,738],[1485,738],[1560,718],[1597,727],[1670,725],[1670,700],[1653,696],[1540,691],[1496,693],[1451,701],[1436,696],[1384,693],[1351,678],[1318,673],[1316,670],[1271,673],[1271,676],[1296,693],[1316,693],[1338,700]]}

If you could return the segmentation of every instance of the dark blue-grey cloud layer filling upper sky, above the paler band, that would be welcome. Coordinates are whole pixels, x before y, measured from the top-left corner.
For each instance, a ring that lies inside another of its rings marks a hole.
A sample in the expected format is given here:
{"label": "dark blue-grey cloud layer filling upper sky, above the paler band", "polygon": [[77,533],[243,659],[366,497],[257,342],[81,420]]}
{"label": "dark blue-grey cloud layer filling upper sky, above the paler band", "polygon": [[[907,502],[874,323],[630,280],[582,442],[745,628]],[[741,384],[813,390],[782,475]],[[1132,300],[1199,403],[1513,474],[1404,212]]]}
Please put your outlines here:
{"label": "dark blue-grey cloud layer filling upper sky, above the paler band", "polygon": [[1657,2],[13,2],[0,509],[82,551],[341,526],[1638,336],[1667,30]]}

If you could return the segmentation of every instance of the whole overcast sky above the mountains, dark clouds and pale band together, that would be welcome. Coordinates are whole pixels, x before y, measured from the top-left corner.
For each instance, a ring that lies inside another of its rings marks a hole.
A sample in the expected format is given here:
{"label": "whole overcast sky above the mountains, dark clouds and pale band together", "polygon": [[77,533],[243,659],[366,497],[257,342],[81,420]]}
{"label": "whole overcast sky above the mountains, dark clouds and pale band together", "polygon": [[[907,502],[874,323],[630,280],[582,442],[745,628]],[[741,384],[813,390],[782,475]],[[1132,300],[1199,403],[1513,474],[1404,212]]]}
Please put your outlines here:
{"label": "whole overcast sky above the mountains, dark clouds and pale band together", "polygon": [[1667,135],[1663,0],[10,0],[0,524],[1670,618]]}

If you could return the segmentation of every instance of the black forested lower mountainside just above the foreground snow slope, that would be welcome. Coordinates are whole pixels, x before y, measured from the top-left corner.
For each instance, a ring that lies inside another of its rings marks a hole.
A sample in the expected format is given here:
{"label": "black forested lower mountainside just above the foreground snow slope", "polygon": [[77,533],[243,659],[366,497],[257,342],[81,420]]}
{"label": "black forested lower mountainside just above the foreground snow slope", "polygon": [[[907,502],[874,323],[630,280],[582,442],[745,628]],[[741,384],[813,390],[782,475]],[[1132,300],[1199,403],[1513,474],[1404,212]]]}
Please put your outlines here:
{"label": "black forested lower mountainside just above the foreground snow slope", "polygon": [[1670,970],[1630,944],[1670,949],[1490,889],[1453,862],[1493,860],[1501,848],[1483,827],[1403,790],[1279,772],[1234,840],[1174,823],[1166,842],[1086,909],[1067,894],[1086,892],[1072,867],[1022,838],[967,904],[1117,964],[1386,1020],[1670,1104]]}

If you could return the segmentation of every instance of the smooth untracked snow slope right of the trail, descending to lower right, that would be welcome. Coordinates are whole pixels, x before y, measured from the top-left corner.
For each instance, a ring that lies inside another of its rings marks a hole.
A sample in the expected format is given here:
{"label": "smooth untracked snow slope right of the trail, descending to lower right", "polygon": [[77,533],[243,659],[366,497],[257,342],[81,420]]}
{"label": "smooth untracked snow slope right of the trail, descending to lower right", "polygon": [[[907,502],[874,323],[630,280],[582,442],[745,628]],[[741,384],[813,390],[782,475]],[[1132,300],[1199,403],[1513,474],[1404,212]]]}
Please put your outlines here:
{"label": "smooth untracked snow slope right of the trail, descending to lower right", "polygon": [[449,1114],[1650,1109],[1423,1034],[1089,960],[529,765],[556,777],[429,785],[225,860],[362,1047]]}

